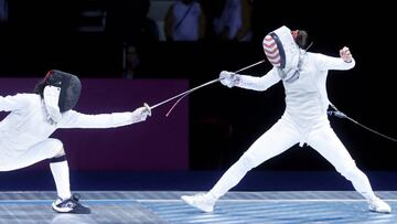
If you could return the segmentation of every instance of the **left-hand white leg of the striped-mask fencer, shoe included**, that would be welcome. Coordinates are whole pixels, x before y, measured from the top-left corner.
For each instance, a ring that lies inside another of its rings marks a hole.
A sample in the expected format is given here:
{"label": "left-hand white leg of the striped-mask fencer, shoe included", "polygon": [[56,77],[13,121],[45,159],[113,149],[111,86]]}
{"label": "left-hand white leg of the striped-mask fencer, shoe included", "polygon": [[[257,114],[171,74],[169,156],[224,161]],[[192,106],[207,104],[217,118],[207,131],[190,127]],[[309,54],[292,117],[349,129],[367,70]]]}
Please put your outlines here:
{"label": "left-hand white leg of the striped-mask fencer, shoe included", "polygon": [[182,200],[203,212],[212,212],[217,199],[235,186],[249,170],[286,151],[298,140],[299,132],[297,129],[291,124],[280,119],[249,147],[210,192],[192,196],[183,195]]}

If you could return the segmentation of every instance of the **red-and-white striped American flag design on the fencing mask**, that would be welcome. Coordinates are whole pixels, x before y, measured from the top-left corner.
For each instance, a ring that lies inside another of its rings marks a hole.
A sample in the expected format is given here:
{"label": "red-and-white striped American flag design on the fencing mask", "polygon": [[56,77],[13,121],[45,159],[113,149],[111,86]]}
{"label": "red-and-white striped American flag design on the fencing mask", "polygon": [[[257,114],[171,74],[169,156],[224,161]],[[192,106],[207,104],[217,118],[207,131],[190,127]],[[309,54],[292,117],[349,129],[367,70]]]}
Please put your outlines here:
{"label": "red-and-white striped American flag design on the fencing mask", "polygon": [[262,45],[266,57],[269,62],[276,67],[283,68],[286,66],[286,53],[277,34],[267,34],[264,39]]}

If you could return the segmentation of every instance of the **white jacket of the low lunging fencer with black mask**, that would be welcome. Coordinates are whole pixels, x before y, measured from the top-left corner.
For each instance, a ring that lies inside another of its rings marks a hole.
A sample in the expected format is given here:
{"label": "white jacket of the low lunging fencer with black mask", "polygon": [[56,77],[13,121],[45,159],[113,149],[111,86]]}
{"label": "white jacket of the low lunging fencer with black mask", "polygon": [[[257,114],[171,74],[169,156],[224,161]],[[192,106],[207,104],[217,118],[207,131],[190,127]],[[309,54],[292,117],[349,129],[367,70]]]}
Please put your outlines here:
{"label": "white jacket of the low lunging fencer with black mask", "polygon": [[57,124],[47,121],[43,99],[37,94],[0,96],[0,111],[10,114],[0,122],[1,154],[19,154],[47,139],[57,128],[111,128],[141,121],[133,113],[85,115],[65,111]]}

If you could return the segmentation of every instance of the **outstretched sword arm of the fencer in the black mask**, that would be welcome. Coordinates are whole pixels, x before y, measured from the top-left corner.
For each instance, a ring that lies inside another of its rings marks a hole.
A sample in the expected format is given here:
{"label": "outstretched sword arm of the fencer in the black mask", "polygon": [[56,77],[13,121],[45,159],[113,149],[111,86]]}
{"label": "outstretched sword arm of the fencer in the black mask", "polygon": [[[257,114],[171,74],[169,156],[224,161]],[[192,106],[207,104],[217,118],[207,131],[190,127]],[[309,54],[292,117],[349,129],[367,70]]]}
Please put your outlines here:
{"label": "outstretched sword arm of the fencer in the black mask", "polygon": [[144,104],[133,111],[85,115],[75,110],[64,114],[60,128],[115,128],[140,122],[151,115],[150,107]]}

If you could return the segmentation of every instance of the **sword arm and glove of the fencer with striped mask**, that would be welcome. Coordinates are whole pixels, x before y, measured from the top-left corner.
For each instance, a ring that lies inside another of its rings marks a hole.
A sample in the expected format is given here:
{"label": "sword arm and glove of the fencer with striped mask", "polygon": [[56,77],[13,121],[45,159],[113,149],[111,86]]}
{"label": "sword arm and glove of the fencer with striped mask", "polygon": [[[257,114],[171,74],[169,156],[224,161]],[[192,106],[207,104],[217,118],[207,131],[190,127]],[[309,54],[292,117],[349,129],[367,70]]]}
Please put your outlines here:
{"label": "sword arm and glove of the fencer with striped mask", "polygon": [[239,75],[233,72],[222,71],[219,74],[221,83],[229,88],[237,86],[253,90],[266,90],[270,86],[281,81],[276,68],[270,70],[261,77],[250,75]]}

